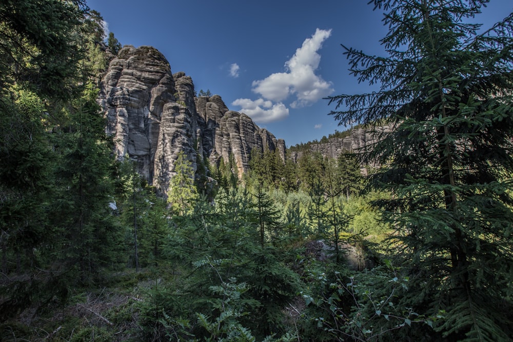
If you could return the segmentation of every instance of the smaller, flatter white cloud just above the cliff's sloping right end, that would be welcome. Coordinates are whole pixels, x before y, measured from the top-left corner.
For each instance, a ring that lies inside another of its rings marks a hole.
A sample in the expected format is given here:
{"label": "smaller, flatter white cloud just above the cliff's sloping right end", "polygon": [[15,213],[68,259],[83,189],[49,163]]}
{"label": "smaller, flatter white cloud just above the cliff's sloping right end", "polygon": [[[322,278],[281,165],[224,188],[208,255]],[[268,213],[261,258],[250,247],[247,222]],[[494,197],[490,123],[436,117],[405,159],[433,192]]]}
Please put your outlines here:
{"label": "smaller, flatter white cloud just above the cliff's sloping right end", "polygon": [[273,104],[269,100],[259,98],[251,100],[249,98],[239,98],[232,102],[233,106],[240,106],[240,112],[250,116],[255,122],[270,123],[281,120],[288,116],[289,110],[284,104]]}

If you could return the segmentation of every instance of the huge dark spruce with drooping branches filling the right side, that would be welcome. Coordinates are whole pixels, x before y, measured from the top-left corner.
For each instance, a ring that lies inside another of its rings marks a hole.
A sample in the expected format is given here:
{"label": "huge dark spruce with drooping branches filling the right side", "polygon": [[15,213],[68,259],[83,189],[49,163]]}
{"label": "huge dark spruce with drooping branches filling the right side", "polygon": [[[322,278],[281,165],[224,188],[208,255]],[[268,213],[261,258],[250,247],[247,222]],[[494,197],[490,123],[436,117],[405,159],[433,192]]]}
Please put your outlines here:
{"label": "huge dark spruce with drooping branches filling the right side", "polygon": [[450,340],[507,340],[511,317],[498,308],[512,306],[513,14],[480,31],[468,18],[484,0],[373,3],[388,56],[344,48],[351,73],[380,91],[329,99],[347,106],[331,113],[341,123],[393,127],[365,157],[382,166],[369,189],[393,194],[378,204],[417,286],[404,299],[445,310],[438,331]]}

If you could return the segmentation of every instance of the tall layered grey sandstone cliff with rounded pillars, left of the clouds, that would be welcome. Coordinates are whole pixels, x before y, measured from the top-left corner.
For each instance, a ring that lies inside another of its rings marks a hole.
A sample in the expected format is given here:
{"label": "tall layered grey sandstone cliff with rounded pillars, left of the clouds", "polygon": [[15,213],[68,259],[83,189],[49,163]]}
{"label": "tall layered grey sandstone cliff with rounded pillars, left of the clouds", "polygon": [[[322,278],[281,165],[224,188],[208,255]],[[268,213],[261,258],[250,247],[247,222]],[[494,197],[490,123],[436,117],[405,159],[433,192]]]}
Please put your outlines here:
{"label": "tall layered grey sandstone cliff with rounded pillars, left of the clouds", "polygon": [[278,149],[285,142],[242,113],[230,111],[219,95],[195,97],[192,79],[171,73],[166,58],[148,46],[125,46],[102,78],[98,102],[118,158],[135,160],[137,171],[162,193],[169,190],[174,162],[183,151],[196,169],[197,157],[225,162],[233,154],[239,176],[253,148]]}

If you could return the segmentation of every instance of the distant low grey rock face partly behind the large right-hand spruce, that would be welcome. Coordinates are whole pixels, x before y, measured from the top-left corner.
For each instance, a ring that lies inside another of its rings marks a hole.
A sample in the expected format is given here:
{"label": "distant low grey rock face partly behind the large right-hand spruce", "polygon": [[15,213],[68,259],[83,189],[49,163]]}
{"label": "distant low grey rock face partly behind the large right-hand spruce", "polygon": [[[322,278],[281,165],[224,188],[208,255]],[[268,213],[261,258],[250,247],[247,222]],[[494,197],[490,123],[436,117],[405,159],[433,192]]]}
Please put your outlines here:
{"label": "distant low grey rock face partly behind the large right-hand spruce", "polygon": [[[358,152],[378,141],[378,135],[381,132],[390,132],[389,126],[376,127],[374,131],[365,131],[361,128],[353,129],[351,134],[345,138],[330,138],[327,143],[311,144],[310,152],[319,152],[324,157],[337,158],[342,153]],[[289,152],[288,157],[294,163],[298,162],[303,152]]]}

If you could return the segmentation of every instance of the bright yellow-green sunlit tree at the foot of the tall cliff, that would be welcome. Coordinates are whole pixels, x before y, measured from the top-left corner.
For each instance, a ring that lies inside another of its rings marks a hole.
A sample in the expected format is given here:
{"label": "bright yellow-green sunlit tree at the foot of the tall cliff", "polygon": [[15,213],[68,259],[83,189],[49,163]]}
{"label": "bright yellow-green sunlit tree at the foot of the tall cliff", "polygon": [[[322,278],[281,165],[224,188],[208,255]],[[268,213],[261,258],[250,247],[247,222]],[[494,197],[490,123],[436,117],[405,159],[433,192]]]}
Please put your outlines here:
{"label": "bright yellow-green sunlit tree at the foot of the tall cliff", "polygon": [[178,153],[174,162],[174,176],[171,178],[171,189],[168,193],[167,202],[179,215],[191,213],[194,203],[198,199],[198,190],[194,186],[194,170],[192,163],[187,160],[183,151]]}

